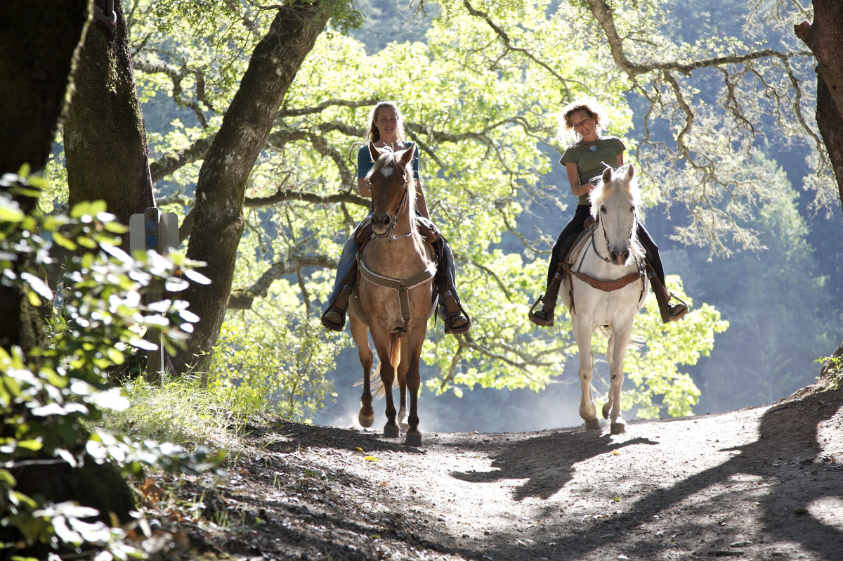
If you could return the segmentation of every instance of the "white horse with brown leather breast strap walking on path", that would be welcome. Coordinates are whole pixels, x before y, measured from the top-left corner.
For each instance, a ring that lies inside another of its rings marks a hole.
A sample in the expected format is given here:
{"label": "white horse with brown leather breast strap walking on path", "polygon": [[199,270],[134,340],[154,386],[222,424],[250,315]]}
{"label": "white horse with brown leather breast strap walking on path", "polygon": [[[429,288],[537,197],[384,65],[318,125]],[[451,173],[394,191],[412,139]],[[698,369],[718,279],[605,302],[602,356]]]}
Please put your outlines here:
{"label": "white horse with brown leather breast strap walking on path", "polygon": [[630,343],[632,323],[647,295],[644,249],[639,244],[637,208],[640,191],[635,170],[604,171],[591,191],[591,215],[597,221],[577,244],[582,249],[572,264],[566,263],[562,294],[571,311],[574,339],[579,348],[579,380],[582,389],[579,413],[586,429],[600,423],[591,395],[593,378],[591,340],[595,329],[609,332],[609,401],[603,417],[611,416],[611,434],[626,432],[620,414],[620,386],[624,381],[624,353]]}

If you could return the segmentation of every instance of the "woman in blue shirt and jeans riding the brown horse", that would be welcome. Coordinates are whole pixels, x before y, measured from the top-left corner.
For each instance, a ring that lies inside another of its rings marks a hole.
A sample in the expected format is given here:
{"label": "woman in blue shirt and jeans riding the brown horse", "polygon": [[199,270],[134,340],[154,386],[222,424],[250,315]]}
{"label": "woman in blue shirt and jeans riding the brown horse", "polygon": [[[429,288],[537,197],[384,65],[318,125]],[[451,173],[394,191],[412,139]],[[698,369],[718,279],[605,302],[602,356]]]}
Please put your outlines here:
{"label": "woman in blue shirt and jeans riding the brown horse", "polygon": [[[389,146],[393,150],[404,150],[411,146],[411,143],[404,138],[404,122],[398,105],[391,101],[381,101],[375,105],[369,118],[369,130],[366,139],[372,140],[378,148]],[[372,169],[374,162],[369,154],[368,142],[360,148],[357,153],[357,191],[363,197],[372,197],[372,189],[369,185],[367,175]],[[422,218],[430,219],[427,212],[427,201],[424,191],[421,189],[419,178],[419,151],[412,161],[413,175],[416,178],[416,213]],[[448,241],[440,238],[435,244],[440,261],[437,266],[435,279],[436,288],[439,291],[439,313],[445,321],[446,333],[462,333],[468,331],[471,320],[459,303],[459,295],[456,289],[456,278],[454,272],[454,254]],[[336,282],[334,291],[328,299],[328,306],[322,314],[322,325],[332,331],[341,331],[346,323],[346,310],[348,299],[351,297],[354,285],[357,282],[357,251],[360,244],[354,236],[346,240],[342,248],[342,256],[337,266]]]}

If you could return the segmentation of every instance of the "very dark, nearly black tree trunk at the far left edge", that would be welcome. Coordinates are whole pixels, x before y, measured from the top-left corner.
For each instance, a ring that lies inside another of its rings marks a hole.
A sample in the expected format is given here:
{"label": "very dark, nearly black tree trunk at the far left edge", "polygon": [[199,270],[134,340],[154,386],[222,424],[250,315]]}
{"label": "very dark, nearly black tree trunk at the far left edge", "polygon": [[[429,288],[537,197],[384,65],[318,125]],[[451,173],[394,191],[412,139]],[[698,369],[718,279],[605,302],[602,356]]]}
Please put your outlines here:
{"label": "very dark, nearly black tree trunk at the far left edge", "polygon": [[[34,172],[44,169],[88,8],[89,0],[0,3],[0,175],[17,173],[24,164]],[[24,212],[37,202],[14,199]],[[33,344],[30,313],[18,289],[0,284],[0,346]]]}

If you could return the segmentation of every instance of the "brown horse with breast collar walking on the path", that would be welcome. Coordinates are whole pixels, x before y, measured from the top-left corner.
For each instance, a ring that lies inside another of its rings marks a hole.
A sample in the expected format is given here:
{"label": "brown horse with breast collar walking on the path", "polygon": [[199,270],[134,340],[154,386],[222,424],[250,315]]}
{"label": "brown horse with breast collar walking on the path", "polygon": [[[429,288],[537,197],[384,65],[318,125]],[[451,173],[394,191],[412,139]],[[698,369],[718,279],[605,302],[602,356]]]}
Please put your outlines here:
{"label": "brown horse with breast collar walking on the path", "polygon": [[[374,165],[368,179],[372,185],[373,235],[358,258],[360,280],[352,298],[350,326],[363,367],[363,393],[359,421],[370,427],[372,409],[372,350],[368,333],[380,360],[380,379],[386,388],[384,437],[398,438],[398,423],[406,414],[406,391],[410,393],[410,417],[405,444],[421,446],[418,424],[418,392],[421,382],[421,343],[433,307],[432,285],[436,266],[416,231],[416,183],[411,162],[416,145],[393,152],[369,142]],[[392,386],[397,369],[400,413],[395,422]]]}

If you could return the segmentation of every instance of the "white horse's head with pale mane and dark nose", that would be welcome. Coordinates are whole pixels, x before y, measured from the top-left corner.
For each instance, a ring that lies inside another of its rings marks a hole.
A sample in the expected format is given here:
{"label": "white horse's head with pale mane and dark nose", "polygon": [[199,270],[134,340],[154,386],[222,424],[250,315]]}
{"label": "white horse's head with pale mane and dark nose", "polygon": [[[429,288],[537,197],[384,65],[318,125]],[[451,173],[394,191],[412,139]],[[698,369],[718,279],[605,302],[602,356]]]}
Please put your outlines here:
{"label": "white horse's head with pale mane and dark nose", "polygon": [[626,265],[630,256],[640,257],[636,236],[639,197],[632,165],[626,166],[626,171],[607,168],[591,191],[591,215],[599,221],[609,262],[615,265]]}

